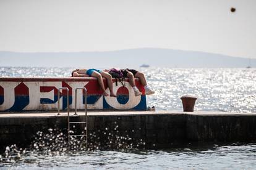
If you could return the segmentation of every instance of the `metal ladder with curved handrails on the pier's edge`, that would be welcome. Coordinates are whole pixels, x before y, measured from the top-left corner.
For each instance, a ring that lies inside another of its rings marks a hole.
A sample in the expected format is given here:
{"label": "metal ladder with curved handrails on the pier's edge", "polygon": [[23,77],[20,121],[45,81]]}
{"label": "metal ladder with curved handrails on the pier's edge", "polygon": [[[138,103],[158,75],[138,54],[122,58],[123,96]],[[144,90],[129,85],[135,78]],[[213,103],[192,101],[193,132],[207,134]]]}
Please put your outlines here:
{"label": "metal ladder with curved handrails on the pier's edge", "polygon": [[[86,140],[86,148],[88,147],[88,134],[87,134],[87,89],[85,87],[77,87],[75,88],[75,114],[74,115],[77,115],[77,89],[83,89],[85,92],[84,92],[84,99],[85,99],[85,121],[72,121],[70,122],[70,119],[69,119],[69,89],[67,87],[61,87],[58,89],[58,115],[59,114],[59,92],[61,89],[66,89],[67,90],[67,135],[68,135],[68,142],[69,142],[69,145],[70,145],[70,137],[72,136],[85,136],[85,140]],[[84,126],[84,131],[85,131],[85,134],[79,134],[79,135],[70,135],[70,124],[85,124]]]}

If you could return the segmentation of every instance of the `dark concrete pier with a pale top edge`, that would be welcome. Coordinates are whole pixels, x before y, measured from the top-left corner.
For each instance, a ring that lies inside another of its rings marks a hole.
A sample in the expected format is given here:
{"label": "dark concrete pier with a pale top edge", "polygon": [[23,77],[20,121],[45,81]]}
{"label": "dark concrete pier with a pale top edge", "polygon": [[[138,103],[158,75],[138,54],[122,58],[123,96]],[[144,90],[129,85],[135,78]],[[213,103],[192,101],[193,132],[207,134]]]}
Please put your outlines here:
{"label": "dark concrete pier with a pale top edge", "polygon": [[[73,121],[81,121],[84,113],[70,115]],[[255,124],[256,113],[90,111],[88,143],[108,142],[106,133],[143,141],[146,148],[164,148],[180,142],[250,142],[256,140]],[[55,127],[67,132],[67,113],[1,113],[0,145],[26,145],[37,131]],[[90,137],[93,134],[96,139]]]}

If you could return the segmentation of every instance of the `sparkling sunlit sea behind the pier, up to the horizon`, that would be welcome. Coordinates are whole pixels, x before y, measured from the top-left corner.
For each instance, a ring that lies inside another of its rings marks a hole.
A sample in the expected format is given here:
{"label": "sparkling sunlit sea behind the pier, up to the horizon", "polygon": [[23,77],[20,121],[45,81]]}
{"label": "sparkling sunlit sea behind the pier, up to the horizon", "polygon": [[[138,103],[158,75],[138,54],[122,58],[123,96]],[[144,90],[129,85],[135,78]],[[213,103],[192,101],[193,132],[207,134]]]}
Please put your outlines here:
{"label": "sparkling sunlit sea behind the pier, up to the horizon", "polygon": [[[74,68],[2,67],[1,77],[68,77]],[[255,68],[140,68],[156,110],[182,110],[181,96],[198,98],[195,110],[256,112]]]}

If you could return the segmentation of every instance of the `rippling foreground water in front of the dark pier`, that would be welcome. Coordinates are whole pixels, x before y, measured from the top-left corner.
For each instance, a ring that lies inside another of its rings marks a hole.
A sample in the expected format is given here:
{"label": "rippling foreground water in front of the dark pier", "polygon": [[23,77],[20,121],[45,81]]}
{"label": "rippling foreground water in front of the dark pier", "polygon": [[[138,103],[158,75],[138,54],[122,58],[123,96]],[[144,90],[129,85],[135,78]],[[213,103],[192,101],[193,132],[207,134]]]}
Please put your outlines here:
{"label": "rippling foreground water in front of the dark pier", "polygon": [[[44,137],[44,135],[42,136]],[[30,150],[14,158],[15,145],[7,147],[8,160],[0,156],[5,168],[66,168],[66,169],[253,169],[256,166],[256,144],[207,143],[174,146],[166,150],[130,149],[90,152],[77,150],[50,154]],[[12,151],[12,152],[11,152]]]}

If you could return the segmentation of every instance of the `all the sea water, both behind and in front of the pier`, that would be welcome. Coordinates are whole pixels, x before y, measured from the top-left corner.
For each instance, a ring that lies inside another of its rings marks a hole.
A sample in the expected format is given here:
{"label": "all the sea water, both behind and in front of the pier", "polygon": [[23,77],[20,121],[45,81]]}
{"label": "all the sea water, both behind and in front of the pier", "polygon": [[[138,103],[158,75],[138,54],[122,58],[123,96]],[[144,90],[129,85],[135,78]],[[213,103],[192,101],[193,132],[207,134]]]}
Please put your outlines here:
{"label": "all the sea water, both behind and in front of the pier", "polygon": [[[73,68],[2,67],[1,77],[67,77]],[[182,110],[180,97],[198,98],[195,110],[256,112],[254,68],[139,68],[155,95],[156,110]],[[17,158],[19,157],[19,158]],[[15,158],[15,159],[14,159]],[[256,169],[256,144],[186,144],[167,150],[111,150],[0,156],[0,168],[14,169]]]}

